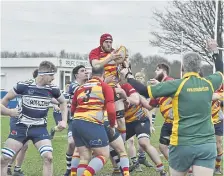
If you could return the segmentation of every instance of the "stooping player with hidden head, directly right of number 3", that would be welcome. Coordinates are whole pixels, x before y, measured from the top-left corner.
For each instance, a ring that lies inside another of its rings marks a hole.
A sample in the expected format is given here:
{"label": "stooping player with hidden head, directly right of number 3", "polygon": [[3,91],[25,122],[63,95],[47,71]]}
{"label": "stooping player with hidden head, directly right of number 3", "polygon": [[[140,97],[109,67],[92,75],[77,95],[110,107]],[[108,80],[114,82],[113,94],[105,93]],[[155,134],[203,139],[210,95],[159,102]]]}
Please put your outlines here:
{"label": "stooping player with hidden head, directly right of number 3", "polygon": [[[125,90],[128,97],[133,95],[139,96],[135,89],[128,83],[121,85],[122,89]],[[137,99],[136,96],[133,97]],[[140,98],[140,96],[139,96]],[[157,150],[150,144],[150,128],[152,128],[152,122],[147,116],[147,112],[141,105],[142,98],[140,98],[140,104],[131,104],[125,109],[125,123],[127,130],[127,139],[136,135],[139,146],[149,155],[152,161],[156,165],[156,170],[160,172],[161,176],[166,176],[163,163],[159,157]],[[145,100],[147,102],[147,100]]]}

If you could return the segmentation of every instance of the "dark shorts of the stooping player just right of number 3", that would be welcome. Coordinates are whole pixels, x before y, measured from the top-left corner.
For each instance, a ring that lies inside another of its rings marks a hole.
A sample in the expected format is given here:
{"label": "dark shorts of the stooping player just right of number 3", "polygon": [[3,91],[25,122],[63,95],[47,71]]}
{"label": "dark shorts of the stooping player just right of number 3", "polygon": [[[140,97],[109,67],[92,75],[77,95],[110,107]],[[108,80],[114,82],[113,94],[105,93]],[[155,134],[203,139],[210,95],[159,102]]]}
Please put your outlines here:
{"label": "dark shorts of the stooping player just right of number 3", "polygon": [[126,123],[126,140],[136,135],[138,139],[150,136],[150,121],[148,118]]}

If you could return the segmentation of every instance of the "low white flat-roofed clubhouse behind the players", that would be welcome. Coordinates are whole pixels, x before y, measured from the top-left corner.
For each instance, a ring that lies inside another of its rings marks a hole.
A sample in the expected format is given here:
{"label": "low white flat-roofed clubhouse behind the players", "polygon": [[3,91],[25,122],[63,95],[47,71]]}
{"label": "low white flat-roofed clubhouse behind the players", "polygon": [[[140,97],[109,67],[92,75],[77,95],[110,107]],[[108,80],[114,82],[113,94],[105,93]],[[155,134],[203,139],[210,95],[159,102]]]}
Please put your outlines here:
{"label": "low white flat-roofed clubhouse behind the players", "polygon": [[84,65],[91,72],[89,61],[64,59],[57,57],[49,58],[1,58],[1,90],[9,91],[18,81],[33,78],[33,71],[38,68],[42,61],[50,61],[57,67],[54,84],[61,90],[65,84],[73,80],[72,69],[77,65]]}

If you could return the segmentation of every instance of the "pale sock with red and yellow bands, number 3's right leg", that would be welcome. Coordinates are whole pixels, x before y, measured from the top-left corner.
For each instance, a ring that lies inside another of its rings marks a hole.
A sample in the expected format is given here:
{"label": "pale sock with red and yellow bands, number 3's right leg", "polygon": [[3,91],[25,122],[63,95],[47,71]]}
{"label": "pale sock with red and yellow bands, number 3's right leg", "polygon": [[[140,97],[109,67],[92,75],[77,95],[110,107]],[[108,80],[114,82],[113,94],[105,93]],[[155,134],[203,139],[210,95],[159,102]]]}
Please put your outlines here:
{"label": "pale sock with red and yellow bands, number 3's right leg", "polygon": [[82,176],[93,176],[103,168],[105,162],[106,160],[103,156],[97,156],[93,158],[89,162],[89,165],[87,166]]}

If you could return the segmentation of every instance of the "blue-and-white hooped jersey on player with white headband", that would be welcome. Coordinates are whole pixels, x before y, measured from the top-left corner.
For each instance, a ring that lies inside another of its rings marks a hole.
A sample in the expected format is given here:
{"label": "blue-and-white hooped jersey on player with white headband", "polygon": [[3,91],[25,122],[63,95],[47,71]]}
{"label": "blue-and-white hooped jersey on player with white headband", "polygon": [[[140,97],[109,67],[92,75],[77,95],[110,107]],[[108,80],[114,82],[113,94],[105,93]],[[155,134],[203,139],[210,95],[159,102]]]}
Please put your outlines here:
{"label": "blue-and-white hooped jersey on player with white headband", "polygon": [[17,123],[25,125],[44,125],[47,123],[49,104],[52,98],[61,96],[60,89],[54,85],[39,87],[35,79],[18,82],[14,86],[16,94],[21,96],[21,114]]}

